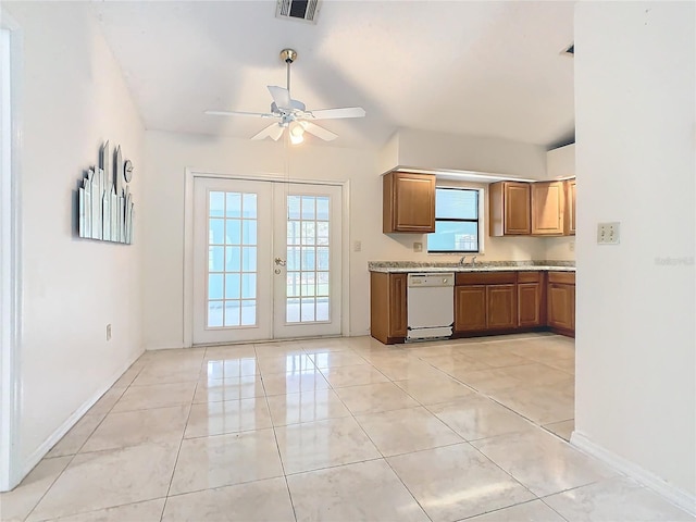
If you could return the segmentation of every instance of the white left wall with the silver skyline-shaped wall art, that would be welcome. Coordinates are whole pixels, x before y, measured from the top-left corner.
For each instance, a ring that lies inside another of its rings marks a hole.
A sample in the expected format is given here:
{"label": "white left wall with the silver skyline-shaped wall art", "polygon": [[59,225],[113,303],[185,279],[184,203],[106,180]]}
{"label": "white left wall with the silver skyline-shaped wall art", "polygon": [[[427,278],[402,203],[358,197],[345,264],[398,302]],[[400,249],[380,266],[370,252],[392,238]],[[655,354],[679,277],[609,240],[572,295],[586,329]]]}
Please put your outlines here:
{"label": "white left wall with the silver skyline-shaped wall art", "polygon": [[[87,3],[3,2],[2,9],[23,35],[18,438],[30,469],[142,351],[144,127]],[[136,167],[134,246],[75,237],[77,184],[98,164],[107,139],[121,144]]]}

